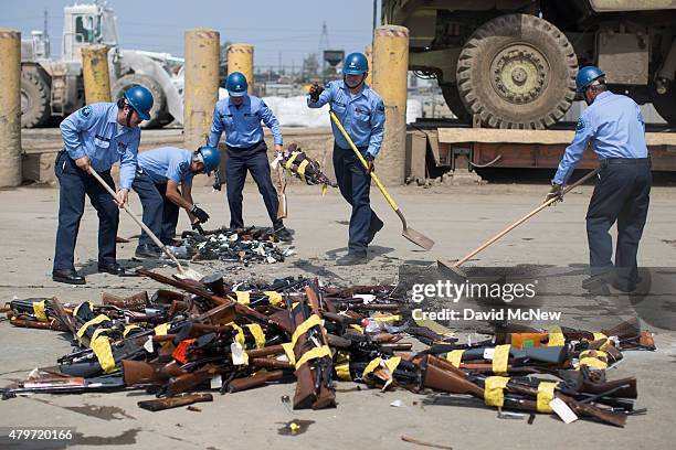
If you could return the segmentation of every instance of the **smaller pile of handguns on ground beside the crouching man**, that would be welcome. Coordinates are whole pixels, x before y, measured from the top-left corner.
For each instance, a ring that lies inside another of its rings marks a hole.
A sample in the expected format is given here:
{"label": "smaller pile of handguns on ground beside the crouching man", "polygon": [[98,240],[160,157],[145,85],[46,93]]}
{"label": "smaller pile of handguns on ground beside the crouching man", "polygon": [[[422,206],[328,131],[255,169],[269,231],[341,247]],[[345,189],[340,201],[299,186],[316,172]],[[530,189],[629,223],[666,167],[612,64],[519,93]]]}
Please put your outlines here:
{"label": "smaller pile of handguns on ground beside the crouching man", "polygon": [[183,232],[182,246],[175,253],[192,260],[222,260],[252,264],[274,264],[293,255],[293,249],[281,249],[268,228],[220,228],[204,234]]}

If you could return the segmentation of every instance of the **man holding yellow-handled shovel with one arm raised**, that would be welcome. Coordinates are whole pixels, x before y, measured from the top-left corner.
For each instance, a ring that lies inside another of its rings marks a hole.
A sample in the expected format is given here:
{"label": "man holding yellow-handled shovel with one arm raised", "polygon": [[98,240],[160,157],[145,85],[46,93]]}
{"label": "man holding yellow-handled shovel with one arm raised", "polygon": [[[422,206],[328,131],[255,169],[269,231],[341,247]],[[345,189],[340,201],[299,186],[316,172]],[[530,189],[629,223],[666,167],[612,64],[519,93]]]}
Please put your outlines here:
{"label": "man holding yellow-handled shovel with one arm raised", "polygon": [[342,65],[342,81],[330,82],[326,89],[313,85],[307,98],[307,106],[310,108],[320,108],[327,103],[330,105],[369,164],[366,170],[340,130],[331,124],[336,180],[340,193],[352,206],[348,254],[337,261],[341,266],[366,262],[367,247],[383,225],[371,210],[369,173],[373,170],[373,160],[382,143],[384,104],[380,96],[365,84],[368,72],[366,55],[351,53]]}

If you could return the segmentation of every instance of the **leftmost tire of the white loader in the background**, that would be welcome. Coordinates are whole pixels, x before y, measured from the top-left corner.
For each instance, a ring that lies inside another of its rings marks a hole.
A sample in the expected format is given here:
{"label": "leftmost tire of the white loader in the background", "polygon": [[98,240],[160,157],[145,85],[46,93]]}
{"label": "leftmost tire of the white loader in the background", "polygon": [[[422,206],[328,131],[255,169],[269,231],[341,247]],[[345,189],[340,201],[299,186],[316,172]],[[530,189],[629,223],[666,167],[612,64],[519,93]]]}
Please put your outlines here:
{"label": "leftmost tire of the white loader in the background", "polygon": [[21,71],[21,126],[36,128],[46,125],[52,116],[51,90],[40,73],[28,68]]}

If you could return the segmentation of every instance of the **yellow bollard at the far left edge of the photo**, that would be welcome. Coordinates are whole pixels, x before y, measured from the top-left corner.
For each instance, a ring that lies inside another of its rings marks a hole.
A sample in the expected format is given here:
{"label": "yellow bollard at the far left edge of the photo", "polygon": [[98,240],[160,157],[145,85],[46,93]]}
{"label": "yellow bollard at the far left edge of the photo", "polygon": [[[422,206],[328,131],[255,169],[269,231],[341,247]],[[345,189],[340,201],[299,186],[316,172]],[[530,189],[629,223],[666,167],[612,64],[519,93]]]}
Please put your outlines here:
{"label": "yellow bollard at the far left edge of the photo", "polygon": [[21,184],[21,33],[0,29],[0,188]]}

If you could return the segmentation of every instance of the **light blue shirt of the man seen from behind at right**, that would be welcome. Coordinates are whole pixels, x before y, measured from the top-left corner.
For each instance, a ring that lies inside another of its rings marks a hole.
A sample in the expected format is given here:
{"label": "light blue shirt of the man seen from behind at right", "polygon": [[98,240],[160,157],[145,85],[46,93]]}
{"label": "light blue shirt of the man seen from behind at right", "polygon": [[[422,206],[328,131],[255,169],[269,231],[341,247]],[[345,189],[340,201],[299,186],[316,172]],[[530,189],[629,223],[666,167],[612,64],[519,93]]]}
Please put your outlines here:
{"label": "light blue shirt of the man seen from behind at right", "polygon": [[641,108],[624,95],[603,92],[584,110],[575,127],[575,137],[559,163],[552,182],[564,184],[591,142],[600,160],[609,158],[647,158],[645,122]]}

